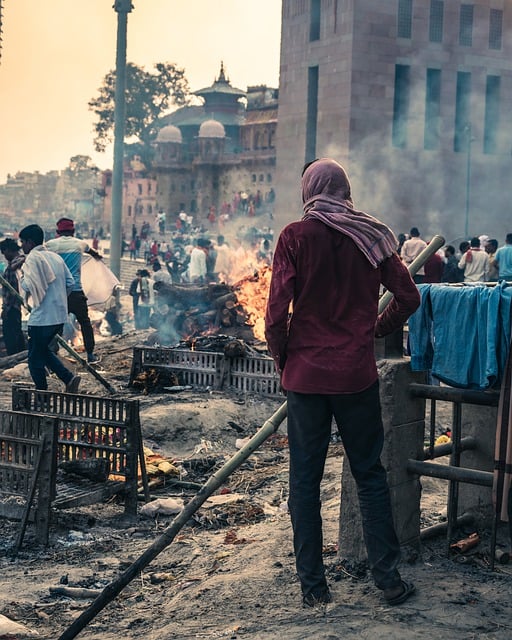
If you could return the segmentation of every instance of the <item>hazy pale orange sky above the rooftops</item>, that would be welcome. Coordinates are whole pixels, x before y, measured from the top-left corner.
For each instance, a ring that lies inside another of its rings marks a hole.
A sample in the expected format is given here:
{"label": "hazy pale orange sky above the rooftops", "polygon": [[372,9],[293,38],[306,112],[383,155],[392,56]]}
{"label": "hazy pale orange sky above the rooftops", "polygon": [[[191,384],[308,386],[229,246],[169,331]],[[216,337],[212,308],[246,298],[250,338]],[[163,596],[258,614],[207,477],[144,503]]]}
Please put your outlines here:
{"label": "hazy pale orange sky above the rooftops", "polygon": [[[0,60],[0,183],[8,173],[63,169],[76,154],[100,167],[87,103],[115,68],[113,0],[4,0]],[[185,69],[192,91],[220,62],[232,85],[278,86],[279,0],[133,0],[128,62]]]}

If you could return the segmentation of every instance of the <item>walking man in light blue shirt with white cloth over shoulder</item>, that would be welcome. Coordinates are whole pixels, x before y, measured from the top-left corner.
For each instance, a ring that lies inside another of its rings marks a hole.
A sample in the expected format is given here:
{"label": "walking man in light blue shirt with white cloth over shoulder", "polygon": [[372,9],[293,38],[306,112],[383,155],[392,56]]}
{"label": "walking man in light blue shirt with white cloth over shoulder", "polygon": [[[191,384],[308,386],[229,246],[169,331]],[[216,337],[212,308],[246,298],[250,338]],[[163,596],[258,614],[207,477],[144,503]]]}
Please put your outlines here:
{"label": "walking man in light blue shirt with white cloth over shoulder", "polygon": [[44,232],[37,224],[20,231],[21,248],[26,254],[21,287],[32,299],[28,319],[28,368],[36,389],[47,389],[46,368],[76,393],[80,376],[67,369],[50,349],[53,338],[62,331],[68,317],[68,293],[73,276],[64,260],[43,246]]}

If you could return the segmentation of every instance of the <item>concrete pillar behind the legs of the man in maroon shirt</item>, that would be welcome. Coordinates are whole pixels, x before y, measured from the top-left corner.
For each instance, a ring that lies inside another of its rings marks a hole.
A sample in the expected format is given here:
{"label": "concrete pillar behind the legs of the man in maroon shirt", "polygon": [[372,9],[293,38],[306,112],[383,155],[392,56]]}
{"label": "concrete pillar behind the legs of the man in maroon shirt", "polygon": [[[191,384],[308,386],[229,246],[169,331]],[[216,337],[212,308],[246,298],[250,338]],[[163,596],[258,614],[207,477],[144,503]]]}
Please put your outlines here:
{"label": "concrete pillar behind the legs of the man in maroon shirt", "polygon": [[[425,401],[409,394],[409,384],[424,383],[425,376],[411,372],[409,361],[403,358],[380,360],[377,367],[384,425],[382,463],[388,474],[395,528],[401,545],[419,549],[421,484],[419,478],[407,473],[406,461],[423,456]],[[346,458],[342,471],[338,556],[350,564],[366,559],[359,500]]]}

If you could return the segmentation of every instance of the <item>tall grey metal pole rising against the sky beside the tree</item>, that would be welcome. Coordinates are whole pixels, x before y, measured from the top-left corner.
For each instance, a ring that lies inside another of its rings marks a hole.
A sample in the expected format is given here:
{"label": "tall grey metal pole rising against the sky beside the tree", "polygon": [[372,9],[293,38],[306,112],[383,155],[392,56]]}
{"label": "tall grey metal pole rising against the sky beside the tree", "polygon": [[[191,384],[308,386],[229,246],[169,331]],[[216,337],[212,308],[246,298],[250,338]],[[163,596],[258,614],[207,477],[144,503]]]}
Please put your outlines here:
{"label": "tall grey metal pole rising against the sky beside the tree", "polygon": [[123,218],[123,160],[126,120],[126,31],[128,13],[133,9],[130,0],[116,0],[117,46],[116,89],[114,107],[114,167],[112,171],[112,217],[110,224],[110,269],[121,276],[121,225]]}

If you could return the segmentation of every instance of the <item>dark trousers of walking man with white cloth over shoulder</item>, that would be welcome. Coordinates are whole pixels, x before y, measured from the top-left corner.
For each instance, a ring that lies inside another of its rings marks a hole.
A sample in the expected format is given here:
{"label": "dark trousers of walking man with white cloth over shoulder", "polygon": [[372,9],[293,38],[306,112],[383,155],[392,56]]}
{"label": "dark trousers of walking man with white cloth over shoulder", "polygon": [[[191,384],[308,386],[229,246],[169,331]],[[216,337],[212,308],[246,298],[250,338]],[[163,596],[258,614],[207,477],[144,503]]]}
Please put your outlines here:
{"label": "dark trousers of walking man with white cloth over shoulder", "polygon": [[53,371],[64,384],[68,384],[73,377],[69,369],[62,364],[50,349],[50,343],[57,333],[62,332],[62,324],[44,327],[28,327],[28,369],[36,389],[47,389],[46,367]]}

